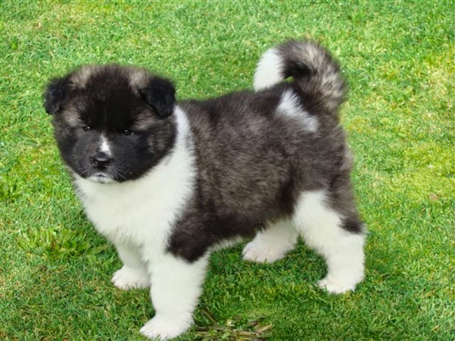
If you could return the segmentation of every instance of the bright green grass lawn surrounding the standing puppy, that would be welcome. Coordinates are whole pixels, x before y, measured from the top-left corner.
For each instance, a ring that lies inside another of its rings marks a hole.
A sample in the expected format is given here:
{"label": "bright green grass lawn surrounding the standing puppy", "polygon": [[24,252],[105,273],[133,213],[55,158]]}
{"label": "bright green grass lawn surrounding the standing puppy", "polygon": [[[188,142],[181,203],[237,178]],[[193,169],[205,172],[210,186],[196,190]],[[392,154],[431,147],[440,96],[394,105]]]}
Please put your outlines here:
{"label": "bright green grass lawn surrounding the standing puppy", "polygon": [[303,243],[272,265],[217,252],[178,339],[455,338],[455,3],[3,0],[0,20],[0,339],[140,340],[153,315],[147,290],[110,283],[120,262],[74,196],[45,82],[119,62],[204,98],[251,88],[261,53],[288,37],[320,40],[350,83],[366,279],[328,295]]}

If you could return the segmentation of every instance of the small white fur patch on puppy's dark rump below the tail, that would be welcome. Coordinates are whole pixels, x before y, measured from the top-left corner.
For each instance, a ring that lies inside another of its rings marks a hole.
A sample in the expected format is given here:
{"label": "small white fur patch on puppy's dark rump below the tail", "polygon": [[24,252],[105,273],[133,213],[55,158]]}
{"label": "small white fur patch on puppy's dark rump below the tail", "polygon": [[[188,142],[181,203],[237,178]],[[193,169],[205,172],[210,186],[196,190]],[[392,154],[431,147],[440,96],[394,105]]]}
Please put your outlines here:
{"label": "small white fur patch on puppy's dark rump below the tail", "polygon": [[314,133],[319,127],[317,118],[311,116],[306,110],[300,107],[297,95],[291,90],[284,92],[280,104],[277,107],[277,113],[301,121],[305,130],[309,132]]}

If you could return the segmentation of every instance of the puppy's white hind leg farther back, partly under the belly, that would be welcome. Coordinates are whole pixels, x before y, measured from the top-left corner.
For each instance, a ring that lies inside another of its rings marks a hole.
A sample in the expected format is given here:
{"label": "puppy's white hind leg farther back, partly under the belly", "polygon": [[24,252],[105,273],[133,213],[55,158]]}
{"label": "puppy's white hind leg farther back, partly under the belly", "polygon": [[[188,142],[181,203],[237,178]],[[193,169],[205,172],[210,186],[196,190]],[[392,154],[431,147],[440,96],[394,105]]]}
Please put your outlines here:
{"label": "puppy's white hind leg farther back, partly under the belly", "polygon": [[288,220],[268,225],[243,249],[243,259],[258,263],[273,263],[291,251],[297,240],[297,231]]}

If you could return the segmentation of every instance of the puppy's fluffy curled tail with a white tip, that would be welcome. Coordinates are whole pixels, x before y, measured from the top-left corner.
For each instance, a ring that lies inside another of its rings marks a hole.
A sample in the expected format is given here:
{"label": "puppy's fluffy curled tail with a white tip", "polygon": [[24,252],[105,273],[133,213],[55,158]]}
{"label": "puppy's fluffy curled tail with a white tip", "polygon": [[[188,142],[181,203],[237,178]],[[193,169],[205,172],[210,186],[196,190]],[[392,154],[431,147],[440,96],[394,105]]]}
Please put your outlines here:
{"label": "puppy's fluffy curled tail with a white tip", "polygon": [[338,63],[315,42],[290,40],[266,51],[254,74],[254,89],[271,87],[291,76],[303,94],[330,111],[336,111],[345,99]]}

